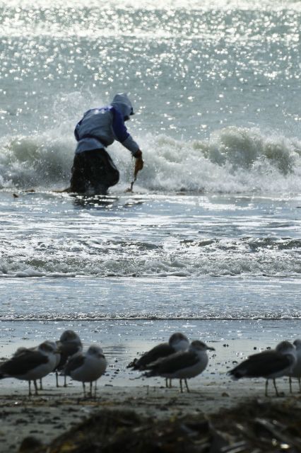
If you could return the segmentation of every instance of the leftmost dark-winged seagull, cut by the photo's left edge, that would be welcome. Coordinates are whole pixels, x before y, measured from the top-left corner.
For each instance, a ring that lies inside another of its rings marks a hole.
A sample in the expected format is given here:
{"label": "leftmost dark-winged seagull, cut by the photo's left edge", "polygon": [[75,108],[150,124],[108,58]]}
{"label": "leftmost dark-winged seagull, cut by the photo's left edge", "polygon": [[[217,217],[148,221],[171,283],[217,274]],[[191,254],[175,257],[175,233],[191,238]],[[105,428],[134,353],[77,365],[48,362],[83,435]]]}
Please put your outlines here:
{"label": "leftmost dark-winged seagull, cut by the photo's left edge", "polygon": [[37,348],[19,350],[17,355],[0,365],[0,379],[13,377],[28,381],[28,395],[31,396],[31,381],[35,384],[37,395],[37,379],[42,379],[53,371],[57,362],[57,345],[52,341],[44,341]]}

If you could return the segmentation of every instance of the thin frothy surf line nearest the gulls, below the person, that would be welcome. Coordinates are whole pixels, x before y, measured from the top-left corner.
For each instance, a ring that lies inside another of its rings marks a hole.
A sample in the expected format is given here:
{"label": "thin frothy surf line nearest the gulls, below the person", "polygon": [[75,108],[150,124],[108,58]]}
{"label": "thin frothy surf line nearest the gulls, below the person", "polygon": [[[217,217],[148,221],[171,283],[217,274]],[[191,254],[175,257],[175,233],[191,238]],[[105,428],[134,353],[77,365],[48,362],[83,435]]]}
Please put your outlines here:
{"label": "thin frothy surf line nearest the gulls, below the person", "polygon": [[[105,280],[108,277],[118,280],[119,278],[152,279],[153,277],[190,279],[201,276],[295,278],[300,277],[301,273],[301,263],[297,256],[297,251],[290,251],[290,256],[288,256],[288,253],[285,253],[283,256],[283,253],[273,253],[273,251],[268,251],[269,254],[267,255],[266,249],[264,249],[263,252],[259,253],[259,256],[254,256],[255,253],[248,253],[246,257],[242,256],[243,251],[232,253],[231,256],[227,256],[227,254],[230,255],[228,250],[224,251],[223,254],[217,251],[213,254],[213,257],[211,256],[211,251],[205,251],[200,258],[197,256],[197,253],[199,253],[198,248],[194,248],[191,252],[184,248],[183,250],[179,250],[179,253],[182,253],[182,255],[189,253],[188,258],[191,262],[194,260],[194,263],[189,264],[184,262],[182,269],[179,269],[179,265],[170,262],[161,263],[161,261],[152,260],[151,256],[148,257],[148,260],[143,259],[141,262],[135,261],[134,263],[133,259],[121,261],[115,258],[110,263],[100,260],[99,263],[95,264],[93,260],[90,260],[86,263],[85,270],[83,270],[79,264],[70,265],[62,261],[60,265],[66,268],[66,272],[57,270],[52,273],[46,271],[45,268],[28,268],[26,263],[21,263],[20,265],[18,263],[18,257],[16,257],[11,263],[4,265],[0,263],[0,280],[11,280],[15,278],[40,279],[44,277],[53,280],[64,278],[74,279],[76,277],[93,277],[99,280]],[[218,259],[216,259],[217,253]],[[81,262],[81,260],[78,261]],[[49,261],[49,263],[45,263],[45,267],[47,265],[53,265],[53,263]],[[95,268],[96,265],[97,268]]]}

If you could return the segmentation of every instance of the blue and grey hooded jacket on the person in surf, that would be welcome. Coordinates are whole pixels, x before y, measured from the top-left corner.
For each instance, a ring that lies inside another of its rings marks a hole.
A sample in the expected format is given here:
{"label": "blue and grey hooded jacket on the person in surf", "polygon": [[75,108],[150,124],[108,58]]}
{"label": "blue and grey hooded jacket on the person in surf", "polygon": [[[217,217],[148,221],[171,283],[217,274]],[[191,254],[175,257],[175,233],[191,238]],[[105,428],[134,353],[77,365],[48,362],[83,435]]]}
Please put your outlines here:
{"label": "blue and grey hooded jacket on the person in surf", "polygon": [[119,93],[107,107],[93,108],[85,112],[76,125],[74,135],[78,142],[76,154],[91,149],[102,149],[117,140],[131,154],[136,154],[138,144],[126,130],[124,121],[134,115],[131,101],[126,93]]}

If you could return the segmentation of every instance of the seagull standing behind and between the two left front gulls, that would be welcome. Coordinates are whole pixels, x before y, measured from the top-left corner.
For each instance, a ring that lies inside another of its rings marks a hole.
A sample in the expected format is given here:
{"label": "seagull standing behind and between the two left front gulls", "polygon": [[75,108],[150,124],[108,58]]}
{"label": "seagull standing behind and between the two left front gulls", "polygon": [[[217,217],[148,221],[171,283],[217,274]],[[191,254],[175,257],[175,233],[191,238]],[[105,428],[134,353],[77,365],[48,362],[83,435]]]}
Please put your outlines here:
{"label": "seagull standing behind and between the two left front gulls", "polygon": [[[57,367],[55,369],[55,376],[57,380],[57,387],[59,387],[59,372],[64,370],[67,360],[72,355],[83,350],[83,345],[81,343],[81,338],[74,331],[68,330],[64,331],[61,334],[61,337],[57,341],[59,350],[61,352],[61,357]],[[64,387],[66,387],[66,375],[64,376]]]}

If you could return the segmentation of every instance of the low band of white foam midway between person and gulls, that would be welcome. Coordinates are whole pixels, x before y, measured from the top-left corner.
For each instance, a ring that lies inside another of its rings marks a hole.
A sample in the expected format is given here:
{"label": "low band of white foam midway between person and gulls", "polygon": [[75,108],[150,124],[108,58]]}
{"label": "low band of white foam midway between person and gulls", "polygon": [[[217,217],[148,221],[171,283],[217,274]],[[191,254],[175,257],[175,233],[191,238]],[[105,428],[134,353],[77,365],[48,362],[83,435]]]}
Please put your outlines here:
{"label": "low band of white foam midway between person and gulls", "polygon": [[[180,251],[179,253],[184,253]],[[237,275],[270,275],[278,277],[297,276],[301,273],[301,263],[296,259],[293,251],[288,251],[285,260],[281,253],[271,253],[268,248],[256,254],[244,251],[220,253],[217,249],[198,253],[187,251],[187,260],[182,259],[181,270],[168,254],[165,259],[139,260],[131,257],[128,260],[117,256],[110,260],[99,259],[83,265],[82,260],[74,259],[71,263],[61,257],[60,262],[40,262],[35,267],[28,266],[26,262],[14,261],[11,265],[3,263],[0,259],[0,278],[4,277],[201,277],[211,275],[216,277]],[[199,256],[198,256],[199,255]],[[218,258],[217,258],[218,256]]]}

